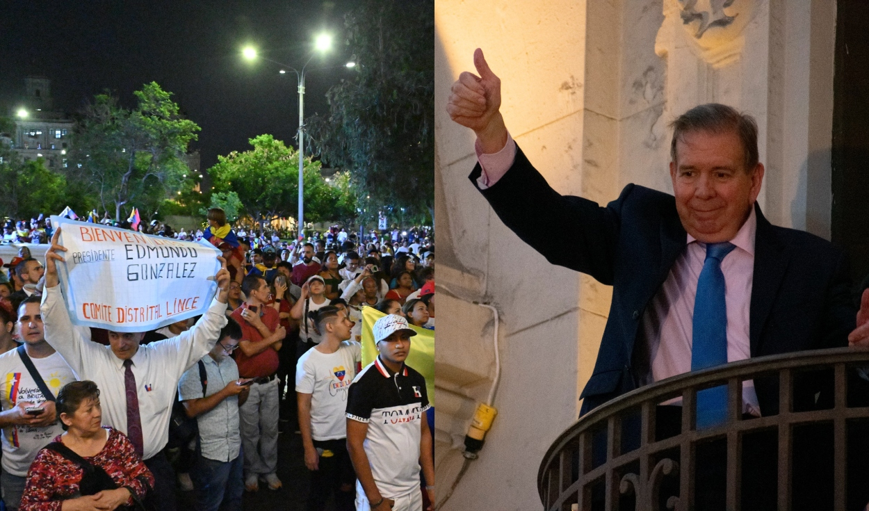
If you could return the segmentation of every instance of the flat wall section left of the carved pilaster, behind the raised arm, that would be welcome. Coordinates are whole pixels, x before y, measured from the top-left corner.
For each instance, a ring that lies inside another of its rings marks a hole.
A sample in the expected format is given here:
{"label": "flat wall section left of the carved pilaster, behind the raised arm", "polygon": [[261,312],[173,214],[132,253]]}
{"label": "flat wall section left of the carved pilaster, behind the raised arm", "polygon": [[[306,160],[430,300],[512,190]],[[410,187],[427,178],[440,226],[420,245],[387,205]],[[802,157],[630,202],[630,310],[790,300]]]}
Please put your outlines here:
{"label": "flat wall section left of the carved pilaster, behind the raised arm", "polygon": [[[435,3],[438,324],[435,448],[438,493],[461,467],[461,445],[494,376],[501,312],[499,410],[479,460],[445,510],[534,509],[541,454],[576,420],[580,275],[553,268],[501,224],[468,182],[473,133],[443,115],[448,89],[481,47],[504,77],[511,133],[561,193],[582,193],[585,6],[574,1]],[[449,246],[449,249],[447,247]],[[601,322],[602,324],[602,322]],[[485,491],[483,488],[492,488]]]}

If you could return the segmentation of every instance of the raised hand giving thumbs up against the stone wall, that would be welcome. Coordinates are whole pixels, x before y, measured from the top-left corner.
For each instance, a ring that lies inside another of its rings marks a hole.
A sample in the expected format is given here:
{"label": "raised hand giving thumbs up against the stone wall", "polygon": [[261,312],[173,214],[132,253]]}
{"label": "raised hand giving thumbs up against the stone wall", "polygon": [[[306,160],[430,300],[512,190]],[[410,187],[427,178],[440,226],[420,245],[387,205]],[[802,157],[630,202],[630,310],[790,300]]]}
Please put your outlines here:
{"label": "raised hand giving thumbs up against the stone wall", "polygon": [[480,76],[464,71],[453,83],[447,113],[455,123],[473,129],[484,153],[496,153],[507,143],[507,127],[501,117],[501,79],[489,69],[483,51],[474,50],[474,66]]}

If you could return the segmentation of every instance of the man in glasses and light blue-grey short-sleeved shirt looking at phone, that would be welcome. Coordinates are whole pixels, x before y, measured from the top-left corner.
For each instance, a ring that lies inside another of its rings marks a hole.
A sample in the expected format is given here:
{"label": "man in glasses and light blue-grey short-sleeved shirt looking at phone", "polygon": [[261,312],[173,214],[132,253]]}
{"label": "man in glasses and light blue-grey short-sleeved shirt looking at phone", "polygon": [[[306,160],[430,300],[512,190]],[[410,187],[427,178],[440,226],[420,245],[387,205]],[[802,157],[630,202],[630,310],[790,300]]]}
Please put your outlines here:
{"label": "man in glasses and light blue-grey short-sleeved shirt looking at phone", "polygon": [[242,508],[244,458],[241,455],[238,407],[248,399],[250,380],[239,379],[232,352],[238,348],[242,328],[233,319],[221,330],[219,341],[189,368],[178,383],[178,399],[199,426],[199,449],[190,470],[197,511]]}

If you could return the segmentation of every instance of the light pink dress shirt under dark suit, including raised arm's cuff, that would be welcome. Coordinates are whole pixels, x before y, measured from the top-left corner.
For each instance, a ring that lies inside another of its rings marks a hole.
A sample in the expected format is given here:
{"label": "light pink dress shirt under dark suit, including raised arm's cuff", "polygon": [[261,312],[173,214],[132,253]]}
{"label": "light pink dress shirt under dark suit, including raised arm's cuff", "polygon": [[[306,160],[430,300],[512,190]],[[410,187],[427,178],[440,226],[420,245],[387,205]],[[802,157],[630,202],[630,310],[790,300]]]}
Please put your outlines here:
{"label": "light pink dress shirt under dark suit, including raised arm's cuff", "polygon": [[[482,172],[477,185],[487,189],[497,183],[513,165],[516,143],[507,134],[507,144],[494,154],[481,152],[479,141],[474,144]],[[754,276],[754,235],[757,216],[752,209],[746,222],[731,242],[736,245],[721,262],[725,281],[727,309],[727,362],[751,357],[749,340],[749,309]],[[640,338],[634,348],[634,372],[640,385],[660,382],[691,370],[694,296],[697,280],[706,259],[706,244],[687,235],[687,246],[673,263],[667,280],[661,285],[643,314]],[[664,340],[662,342],[662,340]],[[754,392],[754,382],[742,384],[743,412],[760,416],[760,405]],[[661,404],[680,404],[676,398]]]}

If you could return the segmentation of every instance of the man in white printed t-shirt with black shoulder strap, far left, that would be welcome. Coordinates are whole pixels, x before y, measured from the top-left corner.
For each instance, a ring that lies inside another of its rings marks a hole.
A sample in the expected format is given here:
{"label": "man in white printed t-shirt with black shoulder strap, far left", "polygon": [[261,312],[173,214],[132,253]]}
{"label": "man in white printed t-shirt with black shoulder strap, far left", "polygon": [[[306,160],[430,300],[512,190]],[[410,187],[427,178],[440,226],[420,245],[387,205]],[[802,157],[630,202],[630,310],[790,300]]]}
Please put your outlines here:
{"label": "man in white printed t-shirt with black shoulder strap, far left", "polygon": [[0,489],[6,509],[15,511],[21,502],[30,463],[39,449],[63,433],[55,413],[54,396],[76,375],[63,357],[45,342],[39,296],[29,296],[18,306],[16,328],[24,355],[50,396],[43,395],[34,375],[24,364],[21,348],[0,355],[0,428],[3,428],[3,473]]}

